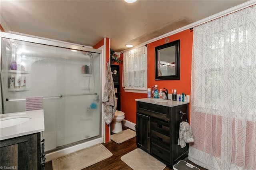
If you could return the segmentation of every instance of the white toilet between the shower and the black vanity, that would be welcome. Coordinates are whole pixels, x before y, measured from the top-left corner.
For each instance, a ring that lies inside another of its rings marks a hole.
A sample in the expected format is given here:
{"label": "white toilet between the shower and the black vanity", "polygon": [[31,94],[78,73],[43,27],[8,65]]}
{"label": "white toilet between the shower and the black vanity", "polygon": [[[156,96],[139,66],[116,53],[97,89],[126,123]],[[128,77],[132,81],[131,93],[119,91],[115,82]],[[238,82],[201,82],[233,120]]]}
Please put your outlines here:
{"label": "white toilet between the shower and the black vanity", "polygon": [[[116,106],[117,106],[117,99],[116,98]],[[113,133],[118,133],[123,131],[122,129],[122,121],[124,120],[124,112],[116,111],[114,115],[114,119],[111,122],[110,131]]]}

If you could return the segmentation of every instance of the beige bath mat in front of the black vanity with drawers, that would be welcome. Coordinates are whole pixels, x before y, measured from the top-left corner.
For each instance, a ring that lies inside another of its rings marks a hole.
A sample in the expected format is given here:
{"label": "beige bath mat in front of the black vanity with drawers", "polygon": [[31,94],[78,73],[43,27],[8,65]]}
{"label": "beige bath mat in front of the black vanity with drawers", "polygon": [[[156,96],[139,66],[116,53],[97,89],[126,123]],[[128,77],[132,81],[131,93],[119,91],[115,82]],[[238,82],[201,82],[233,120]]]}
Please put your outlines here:
{"label": "beige bath mat in front of the black vanity with drawers", "polygon": [[163,170],[166,165],[140,148],[121,157],[133,170]]}

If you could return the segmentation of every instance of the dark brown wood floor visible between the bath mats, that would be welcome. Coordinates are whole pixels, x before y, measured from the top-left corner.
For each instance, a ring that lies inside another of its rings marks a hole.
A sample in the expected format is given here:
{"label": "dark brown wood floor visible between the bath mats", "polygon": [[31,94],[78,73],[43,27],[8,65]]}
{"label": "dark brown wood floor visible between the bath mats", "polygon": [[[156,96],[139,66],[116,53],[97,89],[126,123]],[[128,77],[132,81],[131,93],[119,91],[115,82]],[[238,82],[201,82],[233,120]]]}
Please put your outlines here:
{"label": "dark brown wood floor visible between the bath mats", "polygon": [[[123,130],[127,129],[126,127],[123,127]],[[107,158],[105,160],[102,160],[101,162],[98,162],[92,166],[89,166],[87,168],[84,168],[83,170],[132,170],[127,164],[125,164],[120,158],[121,156],[127,154],[128,152],[131,152],[132,150],[136,149],[136,137],[127,140],[125,142],[122,142],[121,144],[117,144],[114,141],[110,141],[107,143],[103,143],[103,145],[108,148],[110,152],[112,152],[113,156],[110,158]],[[206,170],[190,160],[188,158],[184,159],[186,162],[198,167],[200,170]],[[171,170],[172,168],[166,167],[164,170]],[[46,162],[46,168],[45,170],[52,170],[52,161]]]}

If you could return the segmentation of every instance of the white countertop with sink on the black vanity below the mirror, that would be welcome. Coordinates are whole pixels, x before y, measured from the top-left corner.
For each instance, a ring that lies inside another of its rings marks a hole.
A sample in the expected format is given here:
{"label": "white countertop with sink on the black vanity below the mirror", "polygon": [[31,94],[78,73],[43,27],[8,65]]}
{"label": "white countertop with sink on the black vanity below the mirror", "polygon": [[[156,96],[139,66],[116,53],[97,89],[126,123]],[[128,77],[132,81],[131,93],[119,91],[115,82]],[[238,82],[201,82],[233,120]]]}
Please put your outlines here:
{"label": "white countertop with sink on the black vanity below the mirror", "polygon": [[[174,107],[179,105],[184,105],[189,103],[189,101],[173,101],[173,100],[166,100],[166,99],[156,99],[156,98],[142,98],[142,99],[135,99],[135,101],[141,101],[144,103],[151,103],[154,105],[161,105],[161,106],[167,106],[167,107]],[[166,102],[167,101],[167,102]]]}

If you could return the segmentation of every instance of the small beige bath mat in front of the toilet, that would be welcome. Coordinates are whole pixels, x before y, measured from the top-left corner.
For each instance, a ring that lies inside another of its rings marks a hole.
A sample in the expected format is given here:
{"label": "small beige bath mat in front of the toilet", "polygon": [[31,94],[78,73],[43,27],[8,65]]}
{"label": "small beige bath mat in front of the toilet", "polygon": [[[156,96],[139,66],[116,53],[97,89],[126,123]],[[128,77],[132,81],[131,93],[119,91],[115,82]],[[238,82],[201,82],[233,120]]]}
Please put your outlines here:
{"label": "small beige bath mat in front of the toilet", "polygon": [[122,143],[126,140],[129,140],[136,136],[136,132],[130,129],[126,129],[122,132],[118,132],[116,134],[112,134],[110,136],[111,140],[114,140],[116,143]]}

